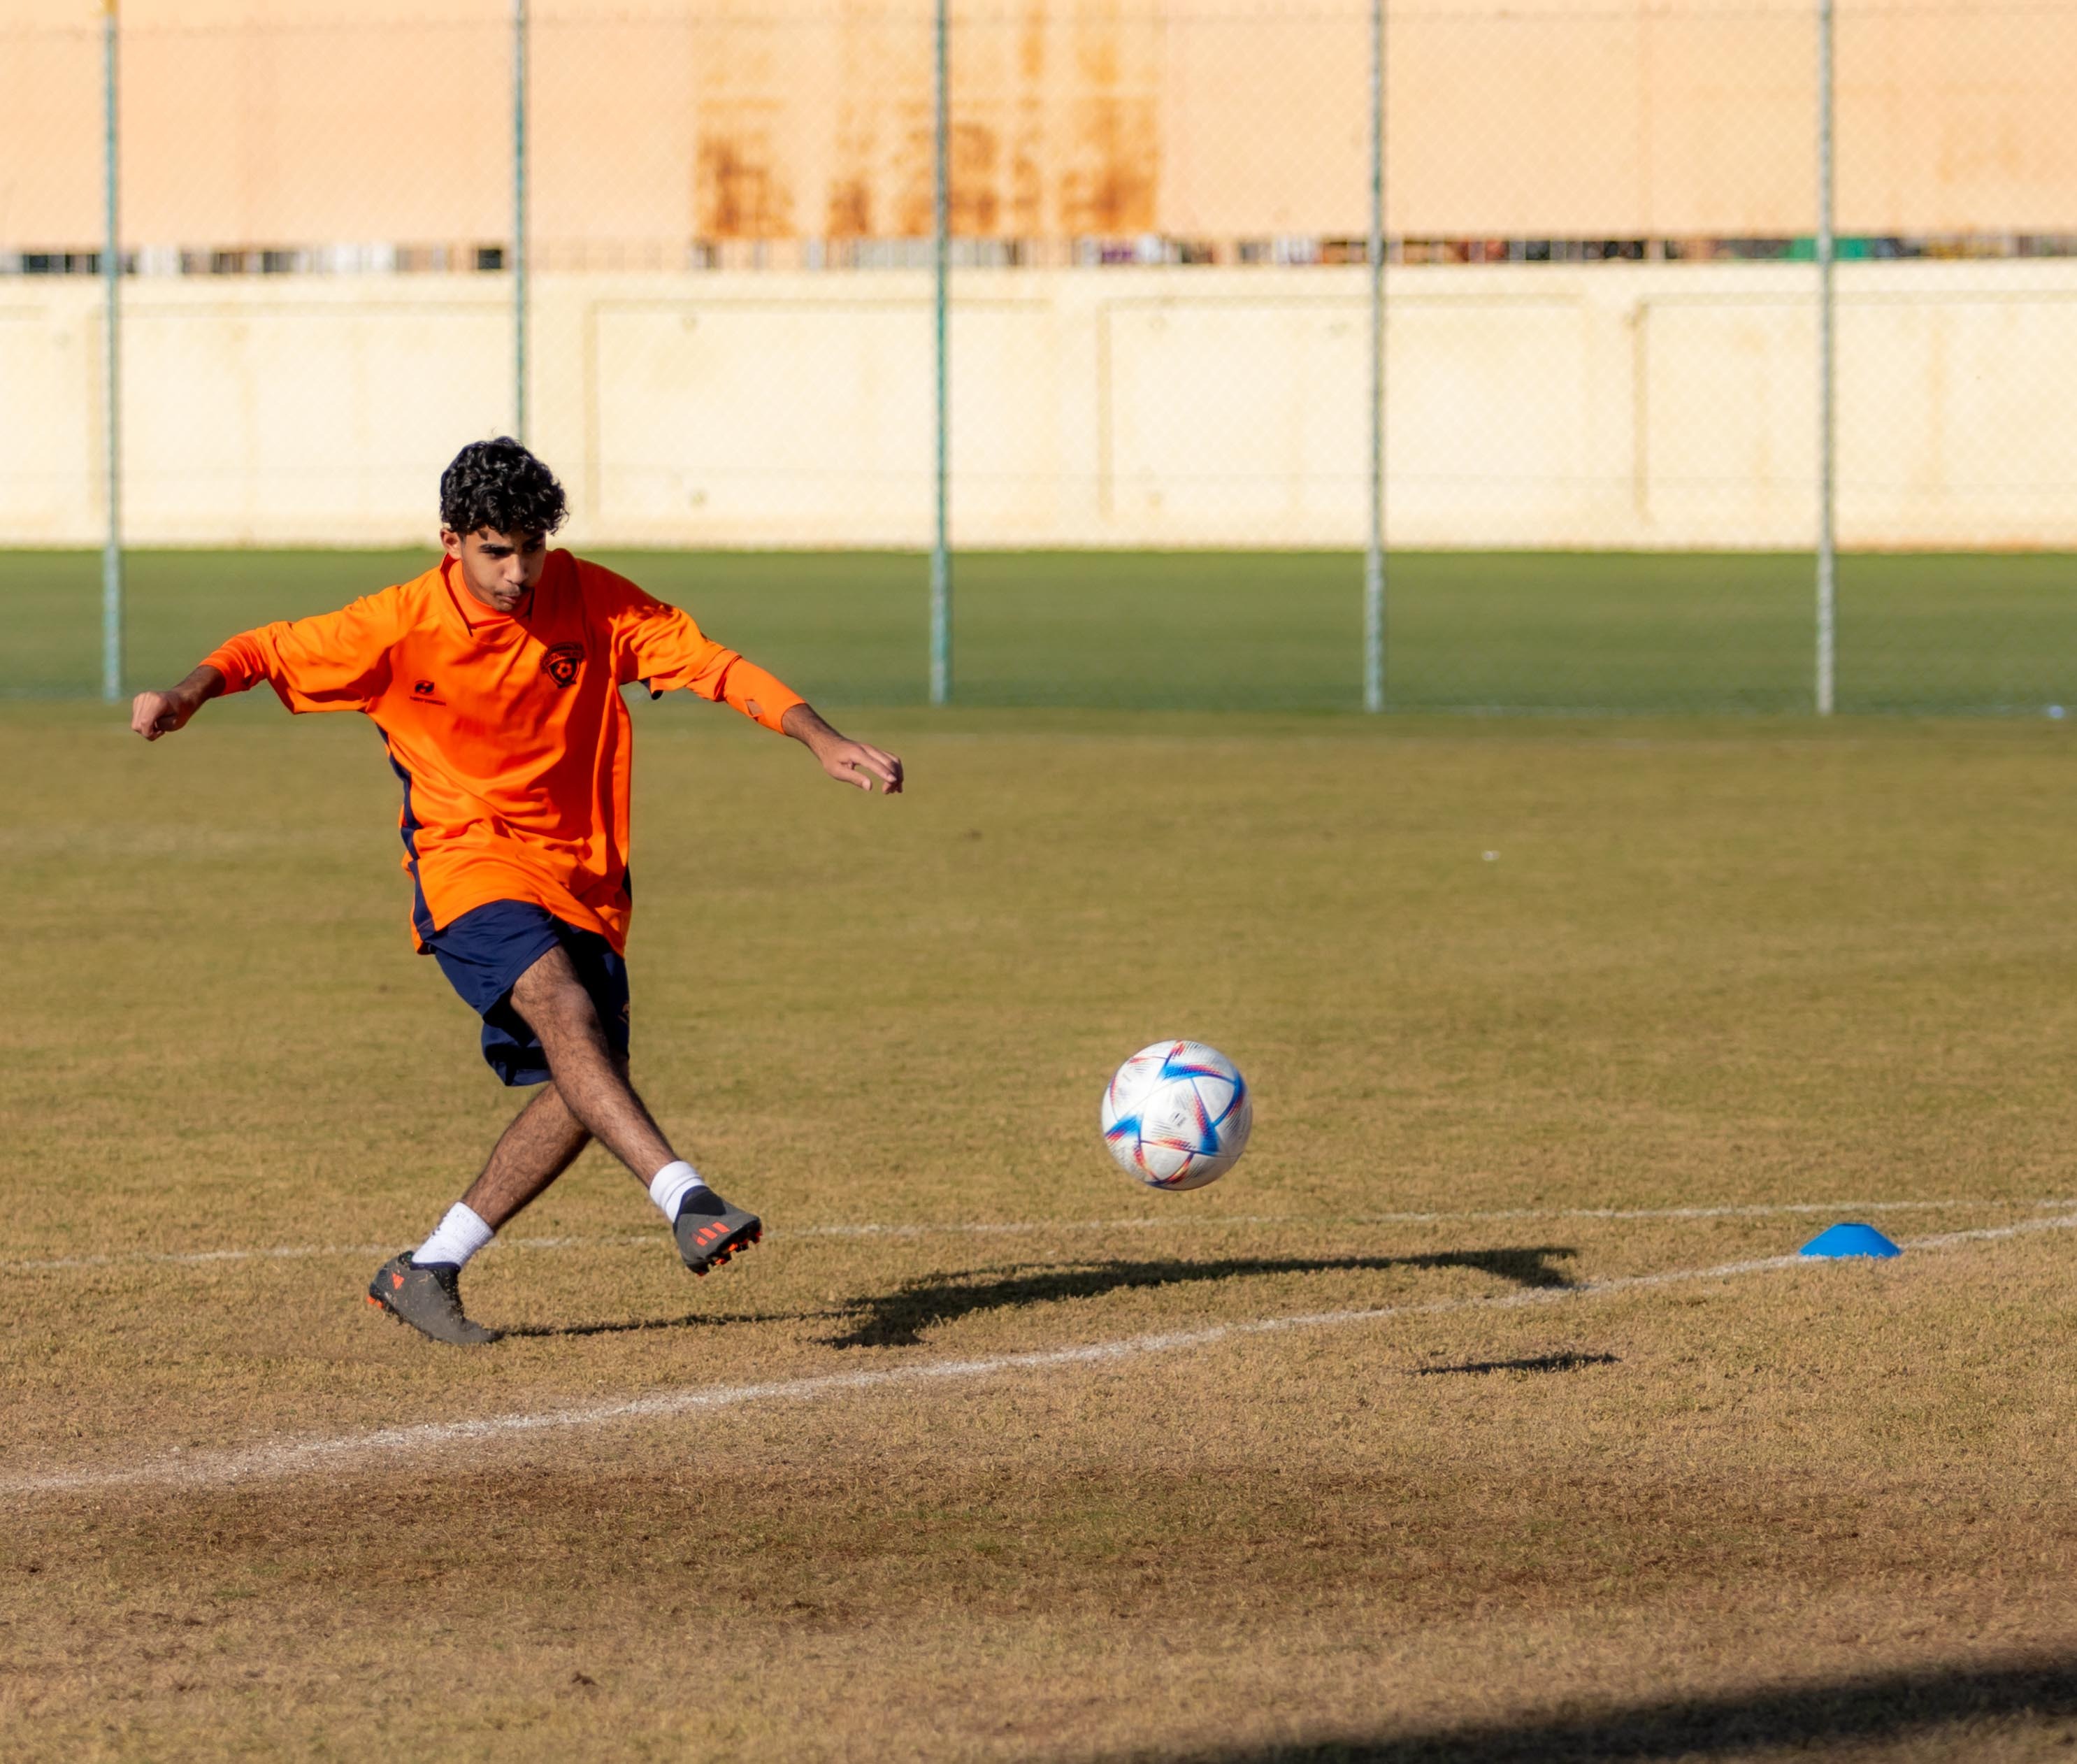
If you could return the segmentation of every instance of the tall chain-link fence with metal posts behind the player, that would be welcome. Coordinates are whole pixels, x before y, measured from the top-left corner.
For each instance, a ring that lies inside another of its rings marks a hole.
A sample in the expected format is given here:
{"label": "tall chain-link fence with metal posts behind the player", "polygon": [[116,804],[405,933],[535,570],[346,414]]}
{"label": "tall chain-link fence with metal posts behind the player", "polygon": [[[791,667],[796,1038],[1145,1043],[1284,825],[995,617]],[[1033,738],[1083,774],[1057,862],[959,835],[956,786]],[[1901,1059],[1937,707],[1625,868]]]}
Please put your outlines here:
{"label": "tall chain-link fence with metal posts behind the player", "polygon": [[2077,698],[2077,0],[85,4],[0,12],[6,690],[523,428],[831,702]]}

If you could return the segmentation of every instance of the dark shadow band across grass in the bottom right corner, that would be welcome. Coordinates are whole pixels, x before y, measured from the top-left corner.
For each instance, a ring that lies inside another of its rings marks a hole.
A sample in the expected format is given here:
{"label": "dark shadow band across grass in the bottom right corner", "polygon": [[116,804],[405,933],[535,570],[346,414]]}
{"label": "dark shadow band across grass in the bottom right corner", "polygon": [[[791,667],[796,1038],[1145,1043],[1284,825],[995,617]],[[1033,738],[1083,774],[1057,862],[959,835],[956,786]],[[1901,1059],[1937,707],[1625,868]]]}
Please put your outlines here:
{"label": "dark shadow band across grass in the bottom right corner", "polygon": [[[1869,1673],[1601,1714],[1344,1735],[1203,1752],[1132,1752],[1144,1764],[1587,1764],[1718,1758],[1776,1747],[1869,1745],[1963,1720],[2077,1720],[2077,1656]],[[2048,1739],[2048,1735],[2042,1735]],[[2071,1743],[2069,1735],[2056,1735]],[[1961,1754],[1957,1754],[1961,1756]]]}

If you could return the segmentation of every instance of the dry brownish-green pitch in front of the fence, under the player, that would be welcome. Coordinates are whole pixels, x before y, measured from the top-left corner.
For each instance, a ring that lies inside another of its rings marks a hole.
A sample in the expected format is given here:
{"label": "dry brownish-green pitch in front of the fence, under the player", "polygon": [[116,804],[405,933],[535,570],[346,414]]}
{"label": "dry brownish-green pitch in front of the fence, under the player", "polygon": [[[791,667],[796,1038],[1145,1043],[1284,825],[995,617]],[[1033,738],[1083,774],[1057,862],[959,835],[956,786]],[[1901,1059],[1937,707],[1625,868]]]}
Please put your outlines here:
{"label": "dry brownish-green pitch in front of the fence, under the player", "polygon": [[588,1153],[457,1353],[361,1290],[513,1097],[374,731],[0,706],[0,1756],[2069,1756],[2067,725],[636,717],[636,1074],[771,1232]]}

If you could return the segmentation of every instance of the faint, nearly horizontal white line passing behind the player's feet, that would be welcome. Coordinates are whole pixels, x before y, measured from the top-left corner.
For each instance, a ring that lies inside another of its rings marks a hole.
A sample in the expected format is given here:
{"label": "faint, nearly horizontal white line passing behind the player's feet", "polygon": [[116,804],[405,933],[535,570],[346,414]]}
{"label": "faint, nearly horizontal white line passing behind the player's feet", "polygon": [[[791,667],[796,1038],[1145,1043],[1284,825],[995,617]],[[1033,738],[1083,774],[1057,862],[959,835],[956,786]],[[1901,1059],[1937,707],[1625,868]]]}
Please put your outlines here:
{"label": "faint, nearly horizontal white line passing behind the player's feet", "polygon": [[[1792,1213],[1913,1213],[1950,1209],[2023,1207],[2058,1211],[2077,1207],[2077,1199],[2056,1201],[1772,1201],[1726,1207],[1500,1207],[1471,1213],[1207,1213],[1171,1220],[1005,1220],[1001,1224],[839,1224],[793,1226],[766,1232],[781,1238],[872,1238],[872,1236],[1047,1236],[1053,1232],[1144,1232],[1144,1230],[1215,1230],[1240,1226],[1429,1226],[1429,1224],[1495,1224],[1508,1220],[1763,1220]],[[663,1240],[663,1226],[652,1232],[619,1236],[517,1236],[498,1238],[492,1249],[652,1249]],[[287,1242],[270,1249],[187,1249],[187,1251],[123,1251],[118,1255],[52,1255],[23,1261],[0,1261],[0,1274],[52,1274],[71,1267],[208,1267],[218,1261],[307,1261],[326,1255],[395,1255],[393,1242]]]}

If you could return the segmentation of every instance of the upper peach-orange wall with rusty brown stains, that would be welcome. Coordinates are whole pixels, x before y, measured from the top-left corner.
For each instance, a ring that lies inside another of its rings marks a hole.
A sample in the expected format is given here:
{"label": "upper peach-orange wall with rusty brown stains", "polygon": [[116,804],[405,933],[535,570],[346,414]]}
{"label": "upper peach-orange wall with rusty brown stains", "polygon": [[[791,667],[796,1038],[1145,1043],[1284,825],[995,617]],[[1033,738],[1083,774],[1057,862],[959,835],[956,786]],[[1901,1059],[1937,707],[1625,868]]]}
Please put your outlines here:
{"label": "upper peach-orange wall with rusty brown stains", "polygon": [[[0,0],[0,249],[100,237],[96,0]],[[1813,226],[1811,0],[1394,0],[1400,235]],[[548,264],[914,237],[930,0],[534,8]],[[953,229],[1230,241],[1367,224],[1363,0],[953,0]],[[2077,233],[2077,8],[1840,0],[1849,233]],[[496,243],[509,4],[125,0],[137,245]]]}

